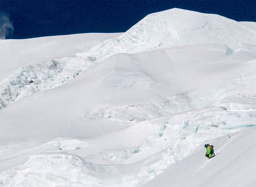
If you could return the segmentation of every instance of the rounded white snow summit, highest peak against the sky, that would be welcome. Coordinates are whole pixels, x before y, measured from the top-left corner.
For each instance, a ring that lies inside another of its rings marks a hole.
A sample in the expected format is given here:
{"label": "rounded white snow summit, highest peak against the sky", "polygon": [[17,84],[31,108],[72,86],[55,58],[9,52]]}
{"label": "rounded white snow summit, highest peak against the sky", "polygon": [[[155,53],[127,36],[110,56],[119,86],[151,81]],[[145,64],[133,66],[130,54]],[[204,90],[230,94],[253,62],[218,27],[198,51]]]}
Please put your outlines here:
{"label": "rounded white snow summit, highest peak against the sky", "polygon": [[121,36],[76,55],[102,62],[117,53],[138,53],[185,45],[226,44],[230,49],[239,49],[240,43],[255,45],[255,35],[254,30],[237,21],[216,14],[175,8],[149,14]]}

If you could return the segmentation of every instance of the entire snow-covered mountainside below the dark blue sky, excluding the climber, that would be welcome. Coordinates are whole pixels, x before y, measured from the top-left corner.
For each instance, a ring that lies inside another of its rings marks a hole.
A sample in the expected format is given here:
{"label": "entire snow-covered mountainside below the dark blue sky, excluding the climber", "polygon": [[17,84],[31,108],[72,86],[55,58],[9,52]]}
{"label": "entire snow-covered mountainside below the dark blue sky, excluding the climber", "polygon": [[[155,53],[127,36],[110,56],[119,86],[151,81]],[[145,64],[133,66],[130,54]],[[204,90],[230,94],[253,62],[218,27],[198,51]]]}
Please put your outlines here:
{"label": "entire snow-covered mountainside below the dark blue sky, excluding the climber", "polygon": [[0,185],[255,186],[255,37],[171,9],[125,33],[1,40]]}

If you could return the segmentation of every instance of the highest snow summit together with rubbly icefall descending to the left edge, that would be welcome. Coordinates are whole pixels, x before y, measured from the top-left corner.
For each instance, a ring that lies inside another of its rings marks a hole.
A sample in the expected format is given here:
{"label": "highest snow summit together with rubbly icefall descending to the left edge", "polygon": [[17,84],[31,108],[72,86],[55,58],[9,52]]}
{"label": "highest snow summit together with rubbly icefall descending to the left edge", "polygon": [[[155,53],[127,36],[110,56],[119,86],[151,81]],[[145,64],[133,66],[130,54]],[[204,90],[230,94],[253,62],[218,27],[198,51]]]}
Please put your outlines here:
{"label": "highest snow summit together with rubbly icefall descending to the left edge", "polygon": [[[190,17],[190,19],[188,20],[187,17]],[[180,25],[177,20],[187,24]],[[218,20],[221,21],[223,27],[216,24]],[[200,33],[195,33],[193,31],[195,29],[200,30]],[[212,29],[219,29],[220,31],[211,31]],[[223,37],[223,33],[226,36]],[[90,65],[100,63],[113,54],[123,52],[131,54],[184,45],[224,43],[227,46],[226,54],[230,55],[234,52],[232,48],[236,48],[240,43],[245,45],[248,43],[252,46],[245,47],[245,50],[255,51],[255,47],[253,47],[255,44],[254,36],[255,32],[253,30],[219,15],[182,9],[170,9],[153,13],[139,21],[123,35],[93,45],[87,52],[77,53],[76,56],[81,58],[75,58],[76,60],[74,60],[72,57],[66,57],[71,62],[64,58],[59,62],[49,61],[35,64],[21,68],[9,75],[0,83],[0,109],[24,96],[60,86],[70,80],[72,76],[87,69],[87,63]],[[188,40],[187,37],[190,37],[191,40]],[[220,38],[226,38],[226,40],[223,41]],[[43,64],[48,67],[44,67]],[[36,86],[31,86],[35,84]]]}

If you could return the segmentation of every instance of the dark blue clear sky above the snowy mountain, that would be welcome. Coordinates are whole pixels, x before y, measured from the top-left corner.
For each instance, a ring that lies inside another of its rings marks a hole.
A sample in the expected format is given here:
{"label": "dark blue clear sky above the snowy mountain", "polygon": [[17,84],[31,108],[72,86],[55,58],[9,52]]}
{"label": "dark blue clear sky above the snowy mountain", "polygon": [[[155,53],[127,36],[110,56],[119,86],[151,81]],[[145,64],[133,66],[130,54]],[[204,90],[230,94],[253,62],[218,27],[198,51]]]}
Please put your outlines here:
{"label": "dark blue clear sky above the snowy mountain", "polygon": [[[9,17],[6,39],[125,32],[146,15],[172,8],[256,21],[256,1],[10,1],[0,0],[0,24]],[[3,15],[5,19],[3,19]],[[1,29],[1,28],[0,28]]]}

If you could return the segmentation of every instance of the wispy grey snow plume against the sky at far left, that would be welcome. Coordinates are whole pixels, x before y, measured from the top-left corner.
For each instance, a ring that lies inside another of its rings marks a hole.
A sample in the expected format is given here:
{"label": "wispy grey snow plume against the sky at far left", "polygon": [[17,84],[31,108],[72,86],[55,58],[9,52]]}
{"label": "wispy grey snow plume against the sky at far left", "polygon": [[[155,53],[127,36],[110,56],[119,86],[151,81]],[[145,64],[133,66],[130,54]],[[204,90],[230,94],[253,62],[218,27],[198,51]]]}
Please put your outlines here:
{"label": "wispy grey snow plume against the sky at far left", "polygon": [[6,39],[6,37],[13,31],[12,23],[10,22],[9,16],[1,13],[0,14],[0,39]]}

